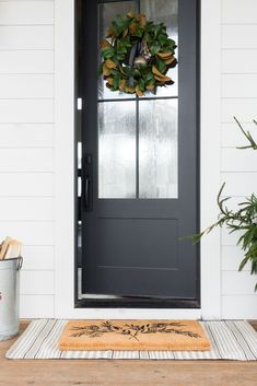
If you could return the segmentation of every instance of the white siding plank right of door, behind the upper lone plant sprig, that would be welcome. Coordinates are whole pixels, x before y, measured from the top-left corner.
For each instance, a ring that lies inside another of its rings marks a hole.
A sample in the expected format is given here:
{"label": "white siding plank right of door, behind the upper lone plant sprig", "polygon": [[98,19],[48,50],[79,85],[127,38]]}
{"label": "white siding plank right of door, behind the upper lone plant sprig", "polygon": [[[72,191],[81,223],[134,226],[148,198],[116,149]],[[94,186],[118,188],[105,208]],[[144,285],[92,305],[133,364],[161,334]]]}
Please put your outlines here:
{"label": "white siding plank right of door, behind the upper lone plant sprig", "polygon": [[[252,124],[243,124],[244,130],[249,131],[257,142],[257,126]],[[222,124],[221,126],[221,145],[222,147],[244,147],[248,145],[248,141],[238,128],[236,122]]]}

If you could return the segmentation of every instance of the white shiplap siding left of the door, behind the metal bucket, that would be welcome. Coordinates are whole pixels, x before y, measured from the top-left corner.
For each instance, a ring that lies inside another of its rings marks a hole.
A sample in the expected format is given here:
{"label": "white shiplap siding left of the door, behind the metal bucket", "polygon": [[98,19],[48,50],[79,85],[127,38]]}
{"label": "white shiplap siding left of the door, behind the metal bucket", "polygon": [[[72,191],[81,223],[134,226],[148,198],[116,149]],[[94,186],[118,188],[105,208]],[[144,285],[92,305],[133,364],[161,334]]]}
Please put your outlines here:
{"label": "white shiplap siding left of the door, behind the metal bucket", "polygon": [[55,315],[54,1],[0,1],[0,237],[24,242],[21,317]]}

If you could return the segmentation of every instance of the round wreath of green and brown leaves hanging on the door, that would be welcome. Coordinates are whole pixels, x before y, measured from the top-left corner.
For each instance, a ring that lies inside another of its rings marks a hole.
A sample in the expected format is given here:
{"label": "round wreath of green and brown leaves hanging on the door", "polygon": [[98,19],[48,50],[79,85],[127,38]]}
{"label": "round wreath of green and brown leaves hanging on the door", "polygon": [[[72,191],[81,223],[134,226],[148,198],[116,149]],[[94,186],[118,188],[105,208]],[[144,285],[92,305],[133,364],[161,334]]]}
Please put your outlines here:
{"label": "round wreath of green and brown leaves hanging on the door", "polygon": [[163,23],[154,24],[144,14],[132,12],[117,15],[101,42],[100,74],[112,91],[138,96],[154,93],[157,86],[174,83],[166,73],[177,65],[175,48]]}

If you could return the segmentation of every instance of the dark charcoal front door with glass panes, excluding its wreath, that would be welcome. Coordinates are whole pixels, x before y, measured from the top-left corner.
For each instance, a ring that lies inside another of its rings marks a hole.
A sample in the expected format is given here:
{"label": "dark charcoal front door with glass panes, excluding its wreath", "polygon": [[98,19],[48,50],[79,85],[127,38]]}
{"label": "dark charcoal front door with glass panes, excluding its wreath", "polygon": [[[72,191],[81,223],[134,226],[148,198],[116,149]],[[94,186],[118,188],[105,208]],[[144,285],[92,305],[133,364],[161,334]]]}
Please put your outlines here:
{"label": "dark charcoal front door with glass panes, excluding its wreath", "polygon": [[[145,13],[177,42],[174,85],[144,97],[98,78],[116,14]],[[82,1],[82,290],[196,300],[198,252],[197,1]]]}

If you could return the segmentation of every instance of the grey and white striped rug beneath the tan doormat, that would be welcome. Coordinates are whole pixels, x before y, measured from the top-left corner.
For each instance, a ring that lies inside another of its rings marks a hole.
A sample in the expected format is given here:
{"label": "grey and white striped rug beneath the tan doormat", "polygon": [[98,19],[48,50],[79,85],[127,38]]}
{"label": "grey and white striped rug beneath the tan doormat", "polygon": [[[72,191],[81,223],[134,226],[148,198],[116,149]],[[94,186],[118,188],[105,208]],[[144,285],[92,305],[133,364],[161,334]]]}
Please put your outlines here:
{"label": "grey and white striped rug beneath the tan doormat", "polygon": [[67,320],[38,319],[30,324],[7,352],[8,359],[106,360],[236,360],[257,359],[257,332],[245,320],[200,321],[211,342],[210,351],[60,351],[58,341]]}

